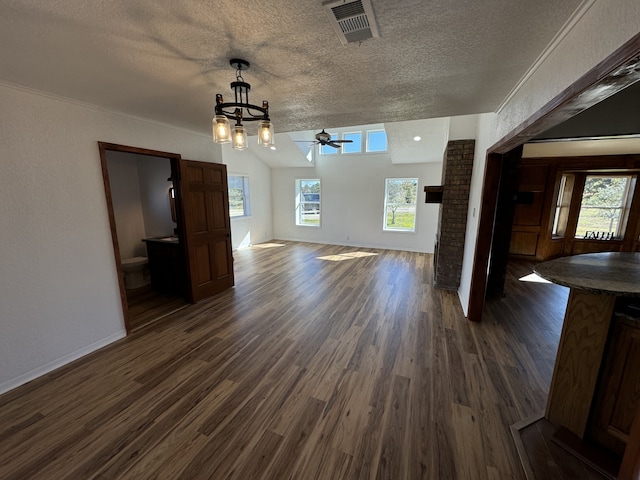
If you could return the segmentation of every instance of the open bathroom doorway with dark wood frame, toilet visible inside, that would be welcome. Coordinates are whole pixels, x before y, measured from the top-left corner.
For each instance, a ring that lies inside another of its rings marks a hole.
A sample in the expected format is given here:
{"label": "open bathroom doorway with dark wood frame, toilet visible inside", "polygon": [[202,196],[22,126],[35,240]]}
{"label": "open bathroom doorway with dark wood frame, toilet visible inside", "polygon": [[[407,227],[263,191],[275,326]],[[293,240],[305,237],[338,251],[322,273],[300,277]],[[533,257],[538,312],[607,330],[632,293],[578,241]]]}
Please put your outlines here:
{"label": "open bathroom doorway with dark wood frame, toilet visible inside", "polygon": [[98,142],[127,332],[189,305],[179,154]]}

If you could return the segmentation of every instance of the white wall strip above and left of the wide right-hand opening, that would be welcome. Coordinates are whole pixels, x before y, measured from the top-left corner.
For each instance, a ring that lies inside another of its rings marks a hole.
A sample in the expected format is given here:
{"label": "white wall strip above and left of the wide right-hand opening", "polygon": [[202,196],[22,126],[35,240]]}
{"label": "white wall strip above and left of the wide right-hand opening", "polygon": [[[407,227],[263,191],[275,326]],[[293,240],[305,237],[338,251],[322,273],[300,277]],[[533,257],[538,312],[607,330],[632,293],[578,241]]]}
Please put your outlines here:
{"label": "white wall strip above and left of the wide right-hand opening", "polygon": [[[588,7],[590,4],[587,2]],[[596,0],[576,18],[564,37],[498,112],[478,125],[472,193],[467,217],[467,239],[458,295],[465,314],[471,286],[471,266],[477,238],[477,218],[486,149],[540,110],[553,97],[608,57],[640,31],[638,0]]]}

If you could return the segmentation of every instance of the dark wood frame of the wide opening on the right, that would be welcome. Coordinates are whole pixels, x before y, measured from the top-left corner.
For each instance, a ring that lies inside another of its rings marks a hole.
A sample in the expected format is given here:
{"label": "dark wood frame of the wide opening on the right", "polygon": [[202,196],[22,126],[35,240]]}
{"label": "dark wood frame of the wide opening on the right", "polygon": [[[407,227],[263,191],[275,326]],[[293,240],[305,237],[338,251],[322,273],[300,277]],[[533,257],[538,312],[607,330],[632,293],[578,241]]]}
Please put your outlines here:
{"label": "dark wood frame of the wide opening on the right", "polygon": [[[640,81],[640,33],[576,80],[487,150],[467,318],[482,319],[503,159],[533,137]],[[603,88],[603,87],[607,88]],[[605,93],[606,92],[606,93]]]}

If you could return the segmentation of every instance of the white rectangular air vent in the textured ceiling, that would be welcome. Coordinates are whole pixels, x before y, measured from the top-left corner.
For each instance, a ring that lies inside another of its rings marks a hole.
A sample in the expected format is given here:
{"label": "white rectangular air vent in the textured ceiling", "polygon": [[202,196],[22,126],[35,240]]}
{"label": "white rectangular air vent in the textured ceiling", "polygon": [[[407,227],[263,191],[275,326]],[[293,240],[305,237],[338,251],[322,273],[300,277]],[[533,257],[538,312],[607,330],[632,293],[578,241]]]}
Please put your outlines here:
{"label": "white rectangular air vent in the textured ceiling", "polygon": [[327,0],[322,6],[343,45],[380,36],[371,0]]}

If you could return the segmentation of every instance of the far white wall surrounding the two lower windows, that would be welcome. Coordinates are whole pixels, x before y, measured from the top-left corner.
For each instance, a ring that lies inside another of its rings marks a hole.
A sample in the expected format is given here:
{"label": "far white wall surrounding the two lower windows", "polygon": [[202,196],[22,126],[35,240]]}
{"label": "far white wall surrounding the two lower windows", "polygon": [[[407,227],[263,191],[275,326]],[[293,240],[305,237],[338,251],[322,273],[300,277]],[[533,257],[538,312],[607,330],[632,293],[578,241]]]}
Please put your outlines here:
{"label": "far white wall surrounding the two lower windows", "polygon": [[[423,187],[440,185],[442,163],[393,165],[387,154],[318,156],[314,168],[272,171],[273,230],[281,240],[433,252],[437,204],[425,204]],[[385,178],[418,178],[416,232],[382,229]],[[321,180],[321,227],[295,224],[295,180]]]}

